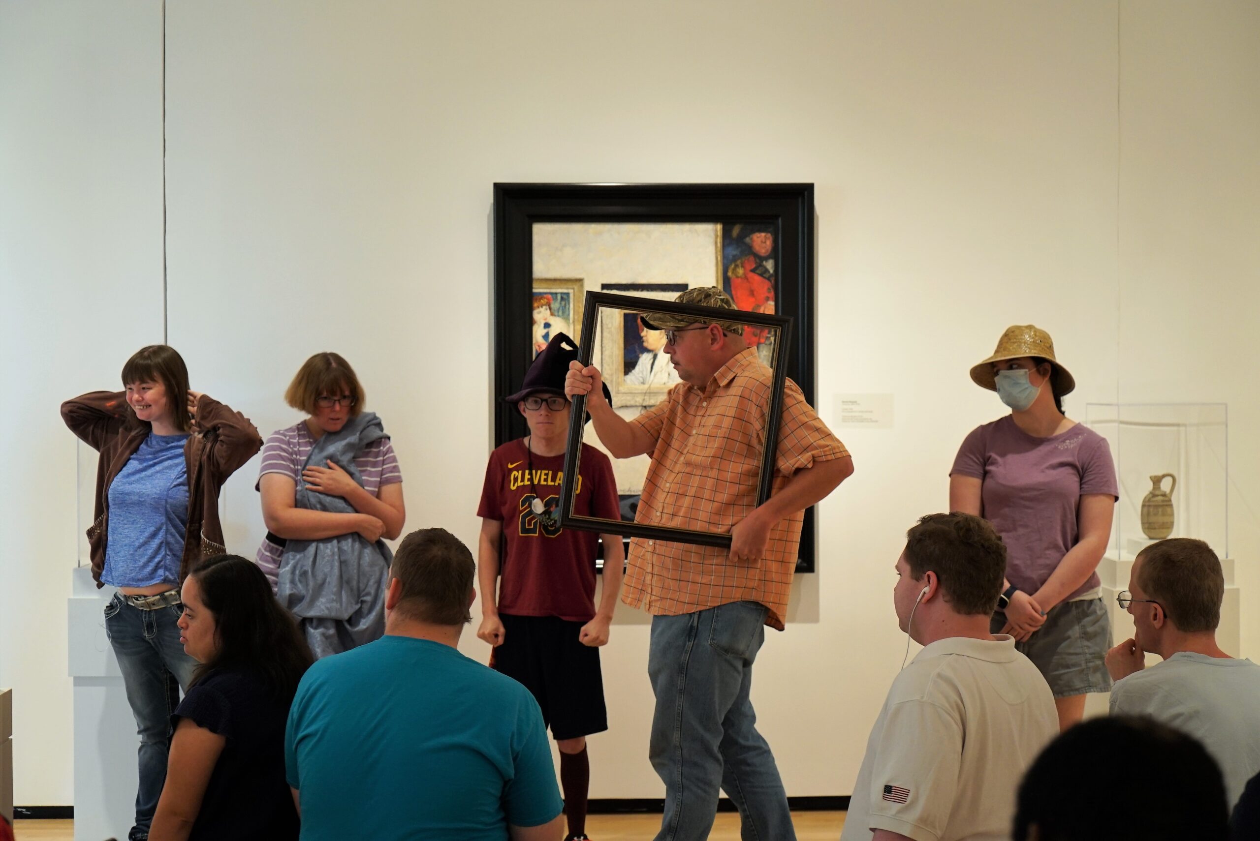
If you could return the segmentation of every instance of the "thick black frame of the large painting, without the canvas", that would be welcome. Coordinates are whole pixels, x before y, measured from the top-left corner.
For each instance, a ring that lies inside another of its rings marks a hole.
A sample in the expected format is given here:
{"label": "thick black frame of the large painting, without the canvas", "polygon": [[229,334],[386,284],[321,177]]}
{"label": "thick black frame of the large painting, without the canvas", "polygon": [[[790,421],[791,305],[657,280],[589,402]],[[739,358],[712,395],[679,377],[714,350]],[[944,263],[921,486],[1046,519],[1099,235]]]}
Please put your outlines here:
{"label": "thick black frame of the large painting, without the canvas", "polygon": [[[498,399],[520,388],[533,354],[533,225],[568,223],[765,223],[777,230],[776,313],[793,320],[788,376],[815,405],[815,235],[813,184],[495,184],[494,443],[525,434]],[[796,572],[815,569],[816,520],[805,511]]]}

